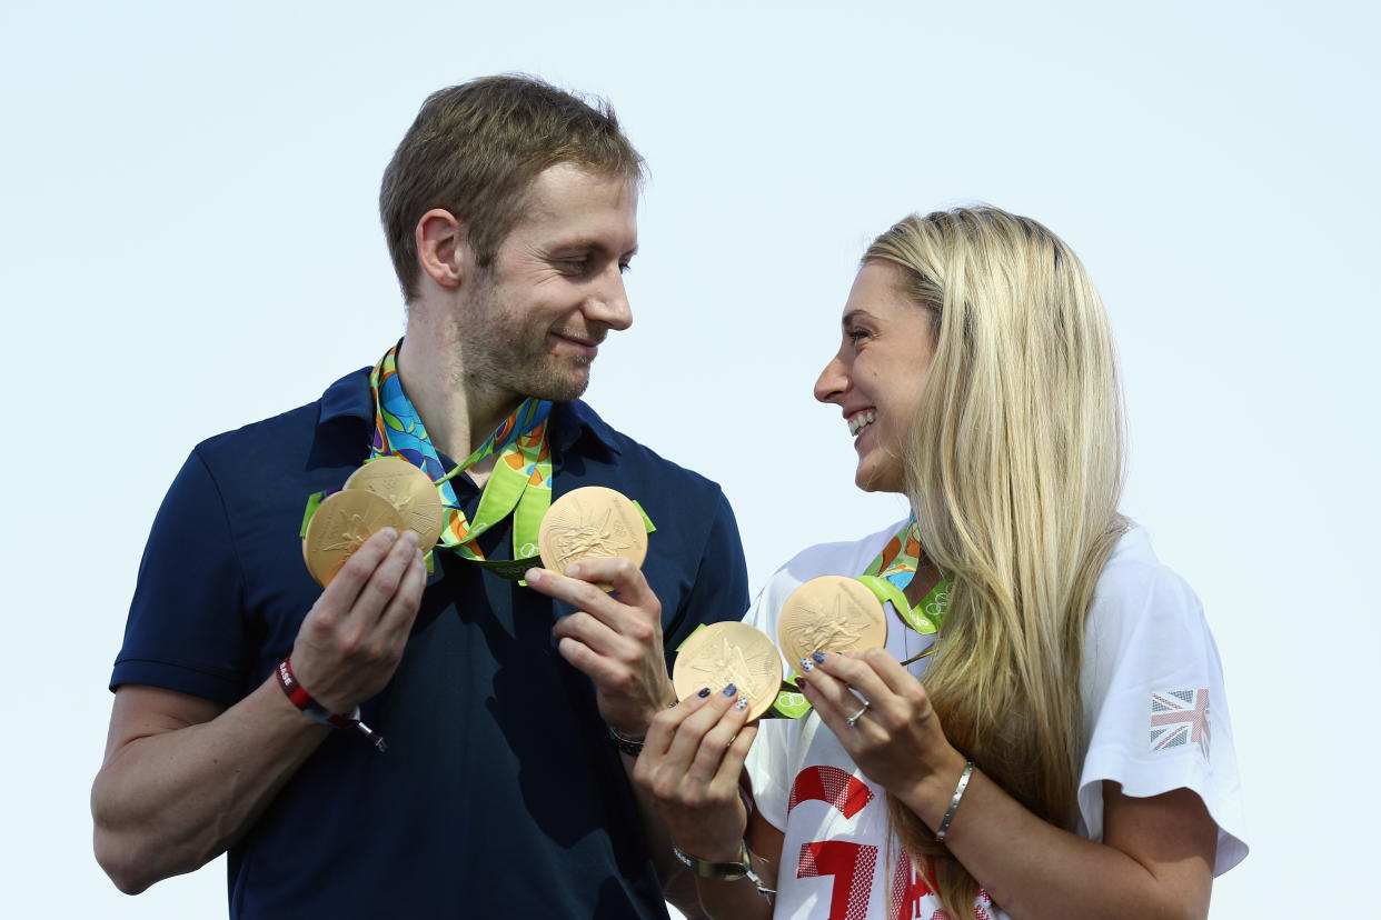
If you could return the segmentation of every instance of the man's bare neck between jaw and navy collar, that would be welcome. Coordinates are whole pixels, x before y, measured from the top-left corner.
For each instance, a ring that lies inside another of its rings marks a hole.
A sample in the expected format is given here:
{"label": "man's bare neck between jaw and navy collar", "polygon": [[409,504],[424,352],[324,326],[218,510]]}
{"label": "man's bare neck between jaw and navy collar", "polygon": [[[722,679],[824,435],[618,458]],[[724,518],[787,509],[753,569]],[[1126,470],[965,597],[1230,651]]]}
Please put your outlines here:
{"label": "man's bare neck between jaw and navy collar", "polygon": [[[398,350],[399,381],[432,444],[456,462],[464,462],[518,408],[522,397],[468,379],[457,348],[429,349],[417,343],[420,338],[425,339],[425,332],[403,338]],[[471,476],[482,483],[492,468],[486,461]]]}

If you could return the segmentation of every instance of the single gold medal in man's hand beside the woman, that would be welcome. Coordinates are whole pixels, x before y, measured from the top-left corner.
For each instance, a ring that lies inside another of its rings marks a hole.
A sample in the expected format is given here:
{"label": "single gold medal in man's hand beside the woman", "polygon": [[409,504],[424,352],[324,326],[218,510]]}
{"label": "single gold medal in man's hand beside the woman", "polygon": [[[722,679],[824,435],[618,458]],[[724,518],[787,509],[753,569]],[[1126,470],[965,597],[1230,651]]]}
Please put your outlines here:
{"label": "single gold medal in man's hand beside the woman", "polygon": [[[648,528],[624,495],[603,486],[584,486],[551,503],[537,528],[537,550],[541,564],[557,572],[583,559],[612,556],[642,566]],[[608,585],[601,588],[609,590]]]}

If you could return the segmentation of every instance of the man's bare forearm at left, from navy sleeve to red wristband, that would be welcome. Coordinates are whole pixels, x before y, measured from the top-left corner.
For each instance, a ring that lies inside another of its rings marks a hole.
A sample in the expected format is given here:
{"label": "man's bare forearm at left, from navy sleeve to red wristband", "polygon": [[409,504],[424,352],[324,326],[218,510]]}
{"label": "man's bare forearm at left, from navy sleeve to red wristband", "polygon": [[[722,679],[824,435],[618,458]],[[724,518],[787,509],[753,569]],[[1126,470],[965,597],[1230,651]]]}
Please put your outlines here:
{"label": "man's bare forearm at left, from navy sleeve to red wristband", "polygon": [[330,732],[272,679],[215,709],[152,687],[116,695],[91,814],[97,861],[127,894],[224,852]]}

